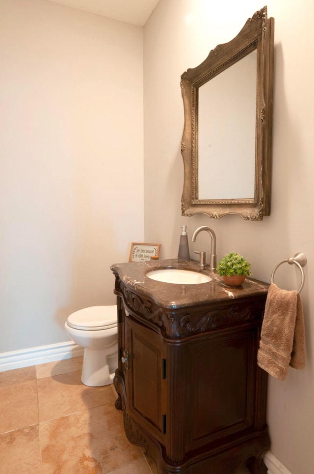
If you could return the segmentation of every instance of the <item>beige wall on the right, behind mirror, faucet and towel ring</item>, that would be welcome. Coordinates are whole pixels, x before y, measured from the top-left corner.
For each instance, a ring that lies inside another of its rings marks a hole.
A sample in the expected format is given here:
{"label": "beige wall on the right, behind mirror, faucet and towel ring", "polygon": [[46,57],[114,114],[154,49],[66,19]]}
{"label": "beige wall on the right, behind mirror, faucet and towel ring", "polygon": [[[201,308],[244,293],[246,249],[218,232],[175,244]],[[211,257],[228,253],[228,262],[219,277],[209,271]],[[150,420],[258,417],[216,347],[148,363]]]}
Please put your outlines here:
{"label": "beige wall on the right, behind mirror, faucet and towel ring", "polygon": [[[145,239],[160,241],[162,257],[178,252],[178,227],[189,238],[199,225],[217,235],[217,257],[237,251],[252,262],[253,276],[270,281],[273,268],[296,252],[308,258],[302,291],[307,367],[290,369],[285,382],[269,380],[268,423],[271,451],[293,474],[312,474],[314,425],[314,94],[311,45],[314,3],[268,0],[275,18],[275,90],[271,215],[262,222],[238,216],[219,220],[181,217],[183,102],[180,76],[204,60],[209,50],[232,39],[260,9],[257,0],[160,0],[144,27]],[[209,179],[211,179],[209,177]],[[194,250],[209,251],[209,236],[197,237]],[[287,264],[288,266],[288,264]],[[295,267],[276,272],[277,283],[297,288]],[[218,363],[219,361],[217,361]]]}

